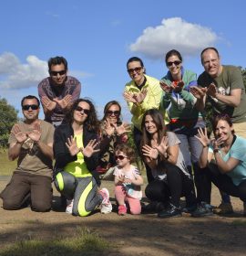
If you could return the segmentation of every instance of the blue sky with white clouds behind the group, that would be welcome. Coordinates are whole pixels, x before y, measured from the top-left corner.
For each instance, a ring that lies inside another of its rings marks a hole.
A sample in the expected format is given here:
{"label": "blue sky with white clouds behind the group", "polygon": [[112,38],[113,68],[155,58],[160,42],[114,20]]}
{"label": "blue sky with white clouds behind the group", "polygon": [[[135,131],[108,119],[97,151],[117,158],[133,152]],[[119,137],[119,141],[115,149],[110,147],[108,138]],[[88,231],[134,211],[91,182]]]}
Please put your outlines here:
{"label": "blue sky with white clouds behind the group", "polygon": [[23,96],[37,96],[47,59],[64,56],[82,83],[81,97],[94,101],[99,116],[117,100],[129,120],[122,91],[130,57],[143,59],[157,79],[167,72],[171,48],[198,75],[200,51],[209,46],[219,49],[223,64],[246,68],[245,9],[245,0],[1,1],[0,97],[20,110]]}

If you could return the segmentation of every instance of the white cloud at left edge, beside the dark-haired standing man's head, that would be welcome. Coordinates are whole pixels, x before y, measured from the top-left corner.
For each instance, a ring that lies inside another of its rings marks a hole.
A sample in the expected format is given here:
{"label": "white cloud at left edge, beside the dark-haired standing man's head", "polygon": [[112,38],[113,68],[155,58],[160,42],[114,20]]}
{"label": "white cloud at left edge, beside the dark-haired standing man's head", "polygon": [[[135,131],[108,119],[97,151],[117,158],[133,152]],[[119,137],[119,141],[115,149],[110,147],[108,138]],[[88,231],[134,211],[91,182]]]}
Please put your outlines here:
{"label": "white cloud at left edge, beside the dark-haired standing man's head", "polygon": [[34,55],[26,58],[26,63],[11,52],[0,55],[0,88],[18,89],[36,87],[40,80],[48,76],[47,63]]}

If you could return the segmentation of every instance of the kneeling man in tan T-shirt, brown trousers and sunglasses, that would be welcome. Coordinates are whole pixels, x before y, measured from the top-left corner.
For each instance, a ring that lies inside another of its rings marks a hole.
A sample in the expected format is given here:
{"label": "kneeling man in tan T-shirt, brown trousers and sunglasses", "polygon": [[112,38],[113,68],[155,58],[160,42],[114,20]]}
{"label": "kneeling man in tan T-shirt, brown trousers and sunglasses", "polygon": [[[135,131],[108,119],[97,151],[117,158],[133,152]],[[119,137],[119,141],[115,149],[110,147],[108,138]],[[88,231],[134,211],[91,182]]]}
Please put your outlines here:
{"label": "kneeling man in tan T-shirt, brown trousers and sunglasses", "polygon": [[28,95],[21,101],[24,122],[16,123],[8,140],[8,157],[17,160],[14,174],[0,194],[3,208],[15,210],[30,203],[32,210],[50,210],[54,126],[38,119],[40,102]]}

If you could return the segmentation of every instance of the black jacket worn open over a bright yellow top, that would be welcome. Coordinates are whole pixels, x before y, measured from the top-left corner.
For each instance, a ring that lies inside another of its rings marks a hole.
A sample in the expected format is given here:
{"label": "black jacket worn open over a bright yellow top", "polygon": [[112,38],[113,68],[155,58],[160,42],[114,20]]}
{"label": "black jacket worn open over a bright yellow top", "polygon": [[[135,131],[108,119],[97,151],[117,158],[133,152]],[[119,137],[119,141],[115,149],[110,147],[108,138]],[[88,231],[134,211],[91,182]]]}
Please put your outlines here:
{"label": "black jacket worn open over a bright yellow top", "polygon": [[[67,138],[74,136],[74,130],[72,126],[68,123],[64,123],[56,127],[54,134],[54,156],[56,159],[54,175],[64,169],[64,167],[70,163],[77,161],[77,155],[70,155],[69,150],[67,148]],[[87,130],[87,127],[83,127],[83,145],[87,146],[90,140],[97,139],[97,133],[90,132]],[[87,157],[84,155],[84,160],[87,165],[87,169],[89,172],[95,177],[97,181],[97,185],[100,185],[100,180],[96,171],[97,165],[99,163],[99,153],[95,153],[91,155],[91,157]]]}

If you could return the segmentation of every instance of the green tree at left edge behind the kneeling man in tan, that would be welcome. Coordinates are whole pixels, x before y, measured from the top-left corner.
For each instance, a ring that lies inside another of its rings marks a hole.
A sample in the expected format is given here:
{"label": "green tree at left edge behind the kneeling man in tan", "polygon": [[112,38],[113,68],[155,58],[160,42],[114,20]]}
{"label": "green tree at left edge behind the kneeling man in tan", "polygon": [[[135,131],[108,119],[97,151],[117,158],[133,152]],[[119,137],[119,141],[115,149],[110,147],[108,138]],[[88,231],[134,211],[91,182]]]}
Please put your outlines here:
{"label": "green tree at left edge behind the kneeling man in tan", "polygon": [[5,98],[0,98],[0,147],[7,146],[7,140],[12,126],[17,122],[18,111],[7,103]]}

